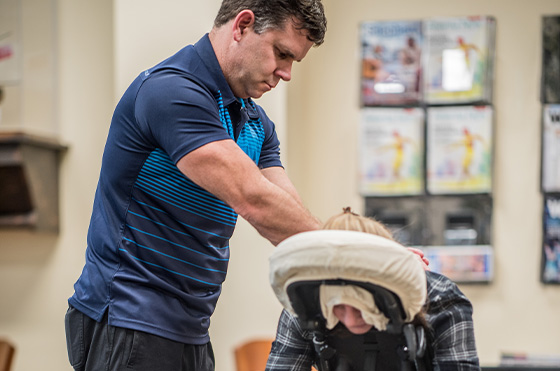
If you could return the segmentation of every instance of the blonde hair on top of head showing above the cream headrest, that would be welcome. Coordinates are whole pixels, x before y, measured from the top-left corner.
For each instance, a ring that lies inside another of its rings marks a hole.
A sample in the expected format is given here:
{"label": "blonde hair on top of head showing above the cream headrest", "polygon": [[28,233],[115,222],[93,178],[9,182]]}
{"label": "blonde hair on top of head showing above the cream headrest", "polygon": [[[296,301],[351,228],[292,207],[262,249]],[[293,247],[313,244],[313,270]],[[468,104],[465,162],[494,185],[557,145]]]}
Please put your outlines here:
{"label": "blonde hair on top of head showing above the cream headrest", "polygon": [[383,224],[373,218],[354,213],[350,207],[345,207],[341,214],[332,216],[323,224],[322,229],[365,232],[395,240],[393,234]]}

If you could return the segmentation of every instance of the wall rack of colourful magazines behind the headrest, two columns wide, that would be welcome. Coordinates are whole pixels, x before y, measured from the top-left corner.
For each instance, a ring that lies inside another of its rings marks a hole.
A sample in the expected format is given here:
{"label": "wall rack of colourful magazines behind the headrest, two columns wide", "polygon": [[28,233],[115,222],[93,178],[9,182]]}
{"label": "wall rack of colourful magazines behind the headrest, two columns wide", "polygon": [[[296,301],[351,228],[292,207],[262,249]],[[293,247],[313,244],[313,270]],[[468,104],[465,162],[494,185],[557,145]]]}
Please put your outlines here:
{"label": "wall rack of colourful magazines behind the headrest, two columns wide", "polygon": [[493,276],[495,31],[487,15],[360,25],[366,215],[456,282]]}

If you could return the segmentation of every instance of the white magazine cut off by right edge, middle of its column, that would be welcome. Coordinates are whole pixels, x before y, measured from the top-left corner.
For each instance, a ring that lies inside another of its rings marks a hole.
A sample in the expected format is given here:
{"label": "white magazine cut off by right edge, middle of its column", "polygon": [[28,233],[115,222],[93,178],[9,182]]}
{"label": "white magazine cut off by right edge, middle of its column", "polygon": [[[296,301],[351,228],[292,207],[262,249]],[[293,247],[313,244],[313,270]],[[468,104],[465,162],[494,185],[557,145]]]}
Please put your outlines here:
{"label": "white magazine cut off by right edge, middle of its column", "polygon": [[542,189],[560,192],[560,104],[543,106]]}

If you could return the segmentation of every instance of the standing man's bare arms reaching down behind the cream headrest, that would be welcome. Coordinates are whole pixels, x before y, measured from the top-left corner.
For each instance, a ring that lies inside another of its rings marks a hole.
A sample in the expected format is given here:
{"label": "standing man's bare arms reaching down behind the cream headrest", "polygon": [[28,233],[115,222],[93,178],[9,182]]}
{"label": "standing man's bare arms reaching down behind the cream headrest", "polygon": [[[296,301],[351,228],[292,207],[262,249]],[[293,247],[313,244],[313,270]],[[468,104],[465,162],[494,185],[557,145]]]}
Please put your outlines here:
{"label": "standing man's bare arms reaching down behind the cream headrest", "polygon": [[320,226],[304,207],[283,169],[259,170],[233,141],[209,143],[183,157],[177,165],[274,245]]}

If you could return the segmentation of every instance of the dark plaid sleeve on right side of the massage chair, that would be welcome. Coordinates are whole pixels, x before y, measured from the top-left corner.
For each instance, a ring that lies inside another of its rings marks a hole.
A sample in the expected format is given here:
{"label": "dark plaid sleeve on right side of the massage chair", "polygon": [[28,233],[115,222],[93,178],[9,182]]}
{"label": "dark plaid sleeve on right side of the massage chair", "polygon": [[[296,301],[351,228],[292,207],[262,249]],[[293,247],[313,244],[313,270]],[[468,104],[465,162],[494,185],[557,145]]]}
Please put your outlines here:
{"label": "dark plaid sleeve on right side of the massage chair", "polygon": [[428,274],[428,296],[434,366],[440,371],[480,370],[470,301],[451,280],[433,272]]}

